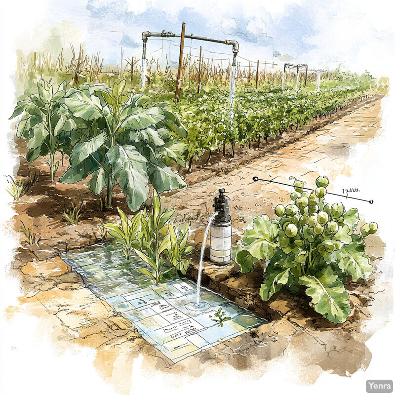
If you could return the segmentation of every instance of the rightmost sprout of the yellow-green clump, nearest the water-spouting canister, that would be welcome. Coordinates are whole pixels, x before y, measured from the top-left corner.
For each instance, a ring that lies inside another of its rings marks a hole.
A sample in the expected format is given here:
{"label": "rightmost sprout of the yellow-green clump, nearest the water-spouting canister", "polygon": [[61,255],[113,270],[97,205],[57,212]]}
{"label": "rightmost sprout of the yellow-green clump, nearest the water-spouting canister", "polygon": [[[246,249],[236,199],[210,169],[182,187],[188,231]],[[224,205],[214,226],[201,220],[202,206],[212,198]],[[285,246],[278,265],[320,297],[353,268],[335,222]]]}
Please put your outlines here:
{"label": "rightmost sprout of the yellow-green clump, nearest the water-spouting canister", "polygon": [[182,231],[173,227],[169,222],[168,232],[170,235],[170,245],[165,250],[165,253],[173,265],[173,279],[176,278],[177,270],[179,270],[183,275],[187,273],[187,268],[189,261],[186,259],[188,255],[191,255],[195,249],[194,247],[188,245],[188,224],[186,224],[185,229]]}

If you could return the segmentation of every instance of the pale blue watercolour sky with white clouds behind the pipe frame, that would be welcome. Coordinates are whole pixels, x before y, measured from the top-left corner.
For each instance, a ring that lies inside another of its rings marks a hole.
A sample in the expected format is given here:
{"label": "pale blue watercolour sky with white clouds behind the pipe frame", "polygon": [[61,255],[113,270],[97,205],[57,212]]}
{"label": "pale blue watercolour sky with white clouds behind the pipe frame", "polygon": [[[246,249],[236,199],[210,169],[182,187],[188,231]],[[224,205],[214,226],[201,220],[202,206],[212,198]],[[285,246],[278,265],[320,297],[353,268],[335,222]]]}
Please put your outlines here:
{"label": "pale blue watercolour sky with white clouds behind the pipe frame", "polygon": [[[172,31],[220,40],[237,40],[241,65],[274,62],[282,65],[308,63],[311,68],[335,69],[339,64],[358,72],[385,70],[377,62],[392,51],[393,29],[383,30],[388,12],[376,1],[127,1],[48,0],[32,17],[27,31],[20,32],[16,47],[59,51],[70,55],[84,43],[87,54],[100,51],[104,64],[119,64],[123,58],[141,57],[143,31]],[[265,4],[262,5],[262,4]],[[162,49],[163,45],[163,49]],[[149,39],[147,57],[178,60],[179,39],[172,42]],[[185,52],[197,59],[228,59],[231,46],[197,40],[185,41]],[[192,47],[192,48],[191,48]],[[210,52],[211,51],[211,52]],[[219,52],[219,53],[215,53]]]}

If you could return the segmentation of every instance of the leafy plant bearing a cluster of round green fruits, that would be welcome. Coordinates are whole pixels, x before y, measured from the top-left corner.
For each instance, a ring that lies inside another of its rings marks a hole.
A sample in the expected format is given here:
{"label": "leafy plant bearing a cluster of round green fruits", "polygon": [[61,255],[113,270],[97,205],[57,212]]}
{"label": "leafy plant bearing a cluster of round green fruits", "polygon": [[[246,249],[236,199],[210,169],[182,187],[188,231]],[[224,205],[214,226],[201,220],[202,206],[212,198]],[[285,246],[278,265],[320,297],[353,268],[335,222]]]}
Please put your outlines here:
{"label": "leafy plant bearing a cluster of round green fruits", "polygon": [[356,233],[357,209],[346,211],[342,203],[329,205],[324,199],[328,184],[327,177],[318,177],[317,188],[309,194],[304,182],[295,179],[293,203],[276,206],[278,219],[256,217],[252,229],[243,235],[243,249],[235,260],[243,272],[266,260],[260,288],[263,300],[284,288],[304,290],[317,313],[339,323],[350,313],[346,277],[356,281],[372,274],[364,238],[376,233],[377,224],[364,224]]}

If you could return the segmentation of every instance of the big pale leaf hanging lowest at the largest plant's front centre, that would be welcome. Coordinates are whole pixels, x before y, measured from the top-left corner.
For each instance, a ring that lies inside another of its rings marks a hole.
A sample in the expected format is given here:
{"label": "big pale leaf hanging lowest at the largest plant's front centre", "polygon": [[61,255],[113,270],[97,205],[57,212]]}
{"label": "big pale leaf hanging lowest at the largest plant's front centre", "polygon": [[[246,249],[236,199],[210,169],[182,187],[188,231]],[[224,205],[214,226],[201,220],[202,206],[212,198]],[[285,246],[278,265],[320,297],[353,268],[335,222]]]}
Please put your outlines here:
{"label": "big pale leaf hanging lowest at the largest plant's front centre", "polygon": [[132,211],[137,211],[147,200],[147,159],[131,145],[116,145],[106,154],[114,178],[117,180]]}

